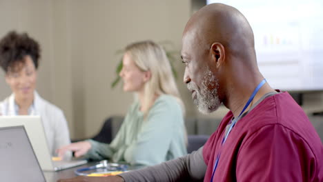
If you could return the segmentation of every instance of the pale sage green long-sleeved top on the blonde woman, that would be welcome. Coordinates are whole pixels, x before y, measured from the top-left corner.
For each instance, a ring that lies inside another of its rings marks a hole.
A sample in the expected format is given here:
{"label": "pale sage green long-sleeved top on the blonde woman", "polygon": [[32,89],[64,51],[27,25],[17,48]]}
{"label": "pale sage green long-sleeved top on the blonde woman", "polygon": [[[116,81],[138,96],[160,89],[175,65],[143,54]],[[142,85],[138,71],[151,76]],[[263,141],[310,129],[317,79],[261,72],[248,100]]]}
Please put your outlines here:
{"label": "pale sage green long-sleeved top on the blonde woman", "polygon": [[183,111],[175,97],[159,96],[146,119],[139,107],[139,101],[130,106],[110,144],[89,140],[92,148],[86,158],[156,165],[187,154]]}

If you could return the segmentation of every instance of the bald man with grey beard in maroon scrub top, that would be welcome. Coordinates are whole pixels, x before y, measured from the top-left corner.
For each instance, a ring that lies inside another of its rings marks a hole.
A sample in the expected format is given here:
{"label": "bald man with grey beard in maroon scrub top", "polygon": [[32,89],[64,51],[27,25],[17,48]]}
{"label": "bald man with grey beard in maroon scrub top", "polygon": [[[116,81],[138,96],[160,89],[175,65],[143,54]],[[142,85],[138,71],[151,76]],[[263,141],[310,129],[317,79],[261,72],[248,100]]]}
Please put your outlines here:
{"label": "bald man with grey beard in maroon scrub top", "polygon": [[253,31],[238,10],[215,3],[195,13],[184,30],[182,59],[199,111],[221,103],[230,110],[204,147],[119,176],[70,181],[323,181],[320,137],[291,96],[266,83]]}

